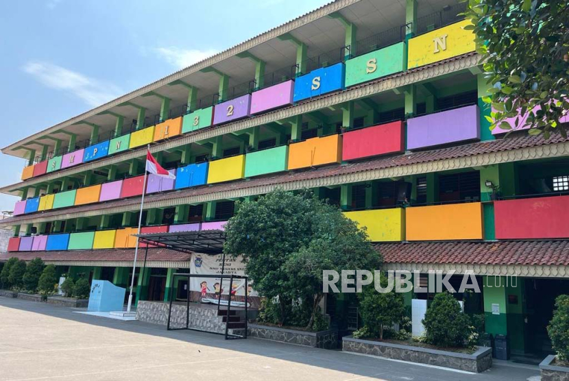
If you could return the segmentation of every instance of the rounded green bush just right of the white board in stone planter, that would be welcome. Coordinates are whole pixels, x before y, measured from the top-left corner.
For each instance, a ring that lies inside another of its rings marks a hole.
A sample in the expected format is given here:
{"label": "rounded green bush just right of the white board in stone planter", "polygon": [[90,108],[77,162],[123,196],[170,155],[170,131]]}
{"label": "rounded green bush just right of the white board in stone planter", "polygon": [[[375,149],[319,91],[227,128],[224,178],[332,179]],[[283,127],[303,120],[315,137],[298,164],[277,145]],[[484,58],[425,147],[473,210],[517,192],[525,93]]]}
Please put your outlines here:
{"label": "rounded green bush just right of the white board in stone planter", "polygon": [[465,347],[472,334],[468,315],[462,312],[457,299],[446,292],[435,295],[423,325],[426,342],[439,347]]}

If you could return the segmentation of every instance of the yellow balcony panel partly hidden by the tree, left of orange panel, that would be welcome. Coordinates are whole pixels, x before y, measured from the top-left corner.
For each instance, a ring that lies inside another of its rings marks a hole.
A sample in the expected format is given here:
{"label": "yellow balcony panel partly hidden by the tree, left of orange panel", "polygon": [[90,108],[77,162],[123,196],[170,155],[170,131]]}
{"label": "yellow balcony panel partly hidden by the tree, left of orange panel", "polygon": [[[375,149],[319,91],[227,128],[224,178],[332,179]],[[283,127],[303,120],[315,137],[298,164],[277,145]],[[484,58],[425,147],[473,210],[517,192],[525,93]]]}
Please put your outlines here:
{"label": "yellow balcony panel partly hidden by the tree, left of orange panel", "polygon": [[356,221],[361,228],[367,228],[367,235],[373,242],[404,241],[405,220],[403,209],[376,209],[344,212],[346,217]]}

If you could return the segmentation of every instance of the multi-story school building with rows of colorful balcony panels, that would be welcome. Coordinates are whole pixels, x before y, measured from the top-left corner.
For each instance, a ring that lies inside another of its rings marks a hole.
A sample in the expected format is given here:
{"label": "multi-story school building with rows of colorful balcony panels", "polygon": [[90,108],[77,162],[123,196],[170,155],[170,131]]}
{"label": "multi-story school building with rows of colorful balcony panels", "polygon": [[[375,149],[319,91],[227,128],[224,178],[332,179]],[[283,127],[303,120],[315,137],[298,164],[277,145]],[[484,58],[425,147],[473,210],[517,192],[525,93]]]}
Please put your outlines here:
{"label": "multi-story school building with rows of colorful balcony panels", "polygon": [[[512,353],[548,349],[569,292],[569,143],[489,130],[462,6],[338,0],[5,147],[26,166],[0,189],[21,197],[0,258],[127,286],[143,192],[142,232],[179,232],[221,227],[237,199],[311,188],[367,227],[385,269],[420,284],[474,271],[482,293],[455,294],[465,311]],[[175,181],[143,189],[147,145]],[[189,258],[149,249],[136,299],[167,300]],[[329,300],[338,323],[350,300]]]}

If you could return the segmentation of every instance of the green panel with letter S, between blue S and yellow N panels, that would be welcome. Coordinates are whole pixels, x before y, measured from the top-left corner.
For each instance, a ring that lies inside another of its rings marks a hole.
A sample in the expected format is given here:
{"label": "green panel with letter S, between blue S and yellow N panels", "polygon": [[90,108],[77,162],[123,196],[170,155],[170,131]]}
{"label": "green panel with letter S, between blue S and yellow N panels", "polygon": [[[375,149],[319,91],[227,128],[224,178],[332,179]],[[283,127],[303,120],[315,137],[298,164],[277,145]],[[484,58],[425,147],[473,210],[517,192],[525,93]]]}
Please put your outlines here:
{"label": "green panel with letter S, between blue S and yellow N panels", "polygon": [[346,87],[405,70],[407,44],[385,47],[346,61]]}

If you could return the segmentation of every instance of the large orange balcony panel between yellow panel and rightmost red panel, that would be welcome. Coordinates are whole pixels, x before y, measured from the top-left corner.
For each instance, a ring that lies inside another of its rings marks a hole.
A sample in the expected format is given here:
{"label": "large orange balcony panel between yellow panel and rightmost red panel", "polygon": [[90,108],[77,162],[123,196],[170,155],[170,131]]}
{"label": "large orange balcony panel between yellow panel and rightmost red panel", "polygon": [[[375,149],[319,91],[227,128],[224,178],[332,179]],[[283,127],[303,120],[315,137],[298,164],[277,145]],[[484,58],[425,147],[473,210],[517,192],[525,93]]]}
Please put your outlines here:
{"label": "large orange balcony panel between yellow panel and rightmost red panel", "polygon": [[482,239],[482,204],[448,204],[407,208],[407,241]]}

